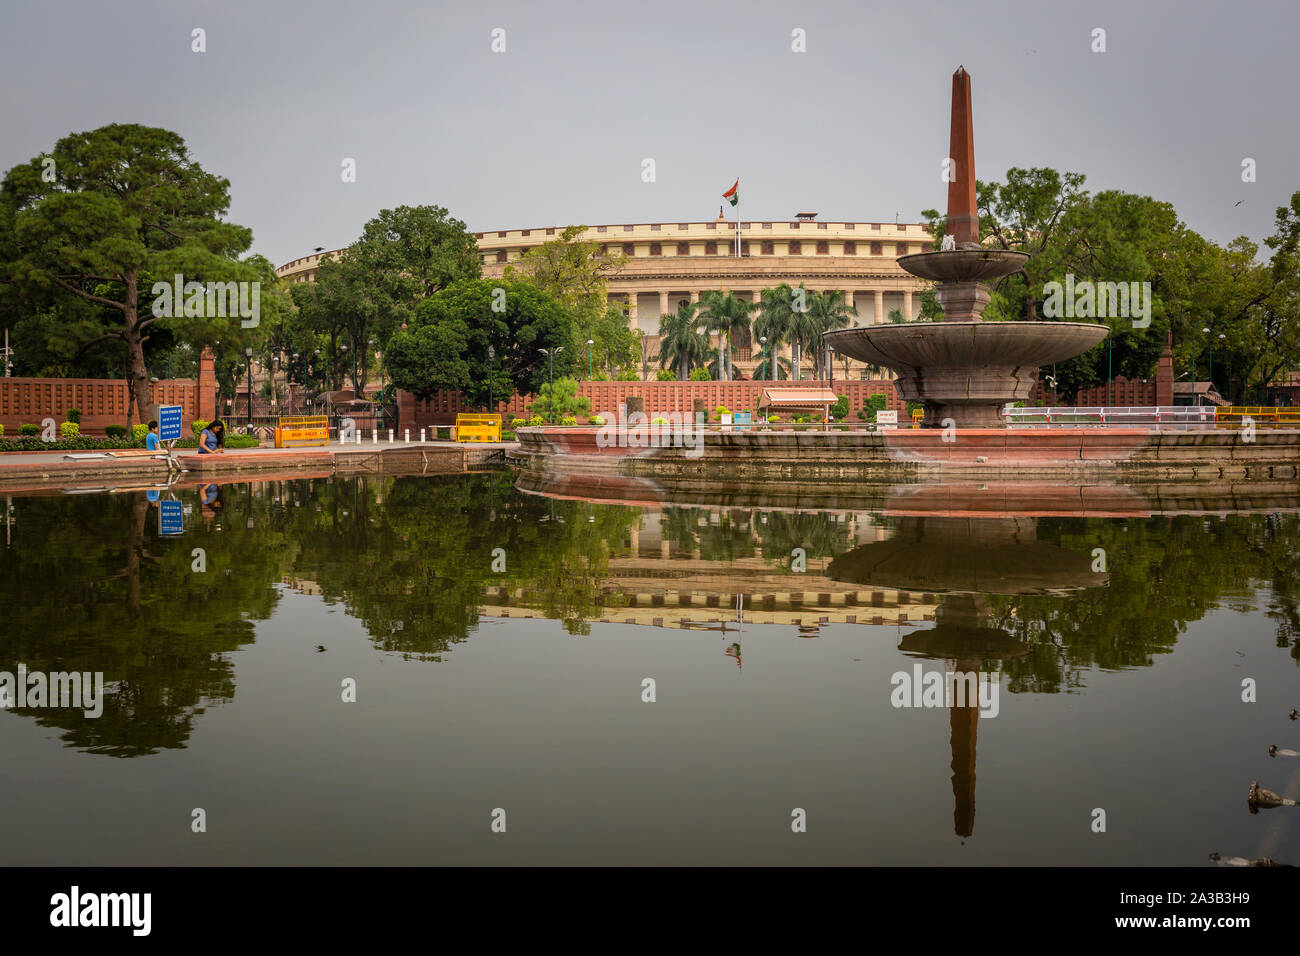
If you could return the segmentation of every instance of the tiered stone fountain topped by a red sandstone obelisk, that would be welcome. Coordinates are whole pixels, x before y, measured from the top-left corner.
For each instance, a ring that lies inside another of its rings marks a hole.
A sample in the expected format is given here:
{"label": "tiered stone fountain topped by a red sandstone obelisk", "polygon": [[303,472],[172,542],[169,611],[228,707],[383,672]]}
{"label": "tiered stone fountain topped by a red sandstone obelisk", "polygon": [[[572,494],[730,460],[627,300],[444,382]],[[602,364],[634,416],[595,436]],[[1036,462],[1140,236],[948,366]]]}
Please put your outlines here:
{"label": "tiered stone fountain topped by a red sandstone obelisk", "polygon": [[975,139],[970,74],[953,74],[948,235],[952,248],[902,256],[898,265],[939,284],[944,321],[871,325],[826,333],[838,352],[898,373],[900,397],[926,403],[927,427],[1002,428],[1001,406],[1024,401],[1039,368],[1079,355],[1106,337],[1105,325],[1086,323],[984,323],[984,285],[1020,272],[1026,252],[984,248],[975,202]]}

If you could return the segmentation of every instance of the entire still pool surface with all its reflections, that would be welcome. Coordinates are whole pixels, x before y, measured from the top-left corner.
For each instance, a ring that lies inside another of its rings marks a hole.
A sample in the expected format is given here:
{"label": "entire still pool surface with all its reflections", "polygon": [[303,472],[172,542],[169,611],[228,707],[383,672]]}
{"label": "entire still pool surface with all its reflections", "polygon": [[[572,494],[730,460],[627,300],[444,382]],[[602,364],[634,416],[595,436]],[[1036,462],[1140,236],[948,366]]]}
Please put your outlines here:
{"label": "entire still pool surface with all its reflections", "polygon": [[213,494],[10,501],[0,671],[105,700],[0,713],[0,864],[1300,864],[1294,514]]}

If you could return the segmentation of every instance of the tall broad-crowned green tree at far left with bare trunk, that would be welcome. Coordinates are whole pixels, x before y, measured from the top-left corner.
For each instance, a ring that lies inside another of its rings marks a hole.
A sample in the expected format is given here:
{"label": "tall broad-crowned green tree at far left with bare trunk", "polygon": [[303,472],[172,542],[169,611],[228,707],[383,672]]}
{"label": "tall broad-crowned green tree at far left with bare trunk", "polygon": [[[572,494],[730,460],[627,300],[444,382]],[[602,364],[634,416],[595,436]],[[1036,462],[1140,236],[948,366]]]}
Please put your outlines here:
{"label": "tall broad-crowned green tree at far left with bare trunk", "polygon": [[251,230],[221,219],[229,190],[181,137],[133,124],[64,137],[0,186],[0,286],[29,303],[74,297],[103,307],[98,329],[74,332],[86,336],[81,349],[125,349],[131,421],[143,420],[150,403],[144,350],[155,324],[187,324],[200,342],[239,329],[238,317],[155,315],[151,291],[178,273],[187,282],[259,278],[256,265],[238,261]]}

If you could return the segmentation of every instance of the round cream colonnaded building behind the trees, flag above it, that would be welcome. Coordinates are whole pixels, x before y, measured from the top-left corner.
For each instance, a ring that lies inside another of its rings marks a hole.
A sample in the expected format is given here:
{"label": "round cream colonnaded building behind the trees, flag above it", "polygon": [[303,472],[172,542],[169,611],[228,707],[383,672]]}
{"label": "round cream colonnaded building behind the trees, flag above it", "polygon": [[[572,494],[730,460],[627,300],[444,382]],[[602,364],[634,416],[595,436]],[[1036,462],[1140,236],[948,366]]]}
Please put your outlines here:
{"label": "round cream colonnaded building behind the trees, flag above it", "polygon": [[[484,277],[497,278],[533,246],[554,242],[563,226],[502,229],[474,233]],[[736,255],[736,222],[632,222],[588,226],[581,237],[599,242],[627,264],[607,281],[610,302],[625,307],[632,328],[646,339],[647,355],[659,354],[659,316],[676,312],[681,302],[698,302],[711,289],[759,300],[763,289],[789,282],[810,291],[838,290],[858,310],[857,325],[888,320],[898,310],[905,319],[919,308],[920,280],[898,268],[898,258],[931,250],[922,222],[819,222],[802,213],[783,222],[741,222],[741,255]],[[312,281],[317,252],[276,269],[290,282]],[[749,377],[760,355],[757,343],[734,349],[737,368]],[[789,346],[783,352],[789,358]],[[853,363],[857,364],[857,363]],[[811,371],[811,360],[807,362]],[[850,377],[857,377],[858,369]],[[806,377],[806,375],[805,375]]]}

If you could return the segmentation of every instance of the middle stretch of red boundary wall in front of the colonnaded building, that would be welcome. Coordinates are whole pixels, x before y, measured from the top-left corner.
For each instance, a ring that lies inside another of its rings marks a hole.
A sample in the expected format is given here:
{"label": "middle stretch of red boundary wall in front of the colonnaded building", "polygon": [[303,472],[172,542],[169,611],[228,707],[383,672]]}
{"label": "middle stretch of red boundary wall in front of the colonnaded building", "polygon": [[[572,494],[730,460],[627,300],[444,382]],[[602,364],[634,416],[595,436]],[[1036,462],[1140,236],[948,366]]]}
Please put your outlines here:
{"label": "middle stretch of red boundary wall in front of the colonnaded building", "polygon": [[[628,398],[645,399],[645,411],[654,418],[656,414],[686,412],[694,410],[696,399],[705,402],[710,415],[718,406],[731,411],[755,411],[764,388],[831,388],[837,395],[849,397],[849,420],[858,421],[858,410],[867,403],[867,397],[879,392],[885,395],[885,407],[906,412],[907,405],[898,399],[893,382],[887,380],[862,381],[584,381],[578,382],[577,393],[592,402],[592,414],[618,414],[619,406]],[[528,418],[528,406],[533,398],[512,395],[508,402],[498,402],[497,411],[511,418]],[[412,428],[446,425],[456,420],[462,411],[478,411],[469,406],[459,392],[437,392],[428,399],[417,399],[408,392],[398,393],[399,415],[403,424]]]}

